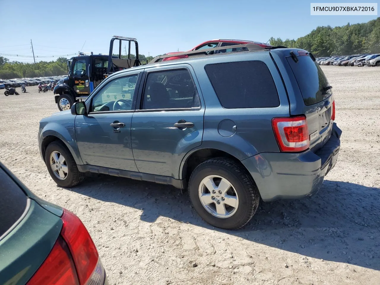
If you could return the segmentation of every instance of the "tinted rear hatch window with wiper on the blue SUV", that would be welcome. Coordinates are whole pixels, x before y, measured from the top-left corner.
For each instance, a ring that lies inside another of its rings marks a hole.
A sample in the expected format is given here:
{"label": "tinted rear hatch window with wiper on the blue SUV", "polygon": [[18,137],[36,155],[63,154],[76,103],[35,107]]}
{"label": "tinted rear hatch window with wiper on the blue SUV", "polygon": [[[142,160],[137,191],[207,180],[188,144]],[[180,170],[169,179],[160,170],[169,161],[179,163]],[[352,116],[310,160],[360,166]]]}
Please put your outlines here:
{"label": "tinted rear hatch window with wiper on the blue SUV", "polygon": [[331,95],[325,74],[309,56],[298,56],[298,62],[287,57],[306,106],[316,104]]}

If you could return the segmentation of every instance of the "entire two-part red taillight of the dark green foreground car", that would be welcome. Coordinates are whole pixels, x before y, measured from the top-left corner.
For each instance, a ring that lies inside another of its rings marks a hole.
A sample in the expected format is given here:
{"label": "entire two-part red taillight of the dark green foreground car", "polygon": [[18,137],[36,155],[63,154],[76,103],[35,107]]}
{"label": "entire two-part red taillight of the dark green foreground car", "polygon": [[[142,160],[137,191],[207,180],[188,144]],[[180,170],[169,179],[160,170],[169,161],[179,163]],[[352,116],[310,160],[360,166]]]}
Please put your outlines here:
{"label": "entire two-part red taillight of the dark green foreground car", "polygon": [[103,285],[105,270],[86,227],[66,209],[61,218],[61,235],[27,285]]}

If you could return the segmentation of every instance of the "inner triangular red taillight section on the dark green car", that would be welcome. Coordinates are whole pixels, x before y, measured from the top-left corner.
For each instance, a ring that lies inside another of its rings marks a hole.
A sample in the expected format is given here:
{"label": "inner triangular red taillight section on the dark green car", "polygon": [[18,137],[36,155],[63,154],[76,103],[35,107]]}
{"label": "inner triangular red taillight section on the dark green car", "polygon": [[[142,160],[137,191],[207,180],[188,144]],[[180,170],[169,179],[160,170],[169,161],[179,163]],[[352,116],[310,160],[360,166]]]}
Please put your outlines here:
{"label": "inner triangular red taillight section on the dark green car", "polygon": [[79,285],[71,254],[62,237],[58,237],[51,252],[27,285]]}

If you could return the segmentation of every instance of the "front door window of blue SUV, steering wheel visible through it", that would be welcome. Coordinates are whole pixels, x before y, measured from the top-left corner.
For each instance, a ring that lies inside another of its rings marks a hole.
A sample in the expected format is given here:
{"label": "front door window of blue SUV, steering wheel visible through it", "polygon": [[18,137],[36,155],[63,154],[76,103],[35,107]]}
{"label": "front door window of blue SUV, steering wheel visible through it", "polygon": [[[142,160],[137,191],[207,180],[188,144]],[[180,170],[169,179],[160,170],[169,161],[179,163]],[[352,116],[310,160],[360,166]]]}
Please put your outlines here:
{"label": "front door window of blue SUV, steering wheel visible through it", "polygon": [[93,97],[91,112],[131,110],[137,78],[135,74],[108,82]]}

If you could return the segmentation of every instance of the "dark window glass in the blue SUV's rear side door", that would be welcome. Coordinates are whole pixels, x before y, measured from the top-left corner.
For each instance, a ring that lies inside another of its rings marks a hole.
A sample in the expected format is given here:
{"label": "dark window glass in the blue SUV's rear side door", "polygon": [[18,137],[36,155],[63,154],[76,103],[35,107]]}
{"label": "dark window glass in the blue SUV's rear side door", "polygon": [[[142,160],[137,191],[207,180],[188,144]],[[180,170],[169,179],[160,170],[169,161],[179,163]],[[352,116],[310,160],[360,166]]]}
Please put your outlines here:
{"label": "dark window glass in the blue SUV's rear side door", "polygon": [[142,109],[178,109],[199,106],[199,96],[188,70],[148,73]]}

